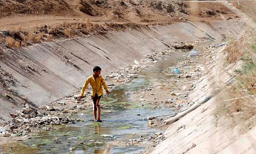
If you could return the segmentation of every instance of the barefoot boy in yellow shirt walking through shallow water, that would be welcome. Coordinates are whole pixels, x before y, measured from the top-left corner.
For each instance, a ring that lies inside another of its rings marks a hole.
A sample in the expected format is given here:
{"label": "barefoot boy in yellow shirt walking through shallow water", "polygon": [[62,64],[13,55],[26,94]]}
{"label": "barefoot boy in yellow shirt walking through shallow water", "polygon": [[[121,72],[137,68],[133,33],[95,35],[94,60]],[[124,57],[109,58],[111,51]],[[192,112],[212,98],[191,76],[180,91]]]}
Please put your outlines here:
{"label": "barefoot boy in yellow shirt walking through shallow water", "polygon": [[100,98],[103,95],[102,85],[106,90],[107,94],[110,94],[104,79],[100,76],[100,71],[101,71],[101,68],[99,66],[95,66],[93,68],[93,74],[86,79],[85,84],[81,90],[80,96],[77,98],[78,101],[81,100],[81,98],[84,96],[85,88],[90,83],[92,87],[91,99],[93,100],[94,122],[102,122],[100,120],[100,104],[99,104]]}

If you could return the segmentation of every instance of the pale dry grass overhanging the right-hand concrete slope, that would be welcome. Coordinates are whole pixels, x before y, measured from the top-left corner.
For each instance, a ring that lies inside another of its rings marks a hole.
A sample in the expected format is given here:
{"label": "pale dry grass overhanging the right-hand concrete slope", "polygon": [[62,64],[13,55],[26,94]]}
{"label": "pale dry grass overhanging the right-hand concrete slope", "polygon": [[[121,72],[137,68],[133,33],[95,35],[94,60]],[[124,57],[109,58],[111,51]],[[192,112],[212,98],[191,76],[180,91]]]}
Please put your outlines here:
{"label": "pale dry grass overhanging the right-hand concrete slope", "polygon": [[[256,14],[256,7],[253,9]],[[217,120],[224,119],[225,124],[238,126],[242,132],[256,126],[255,36],[255,30],[247,30],[228,43],[225,49],[227,64],[237,65],[242,62],[242,66],[234,71],[234,82],[221,94],[224,101],[218,103],[216,110]]]}

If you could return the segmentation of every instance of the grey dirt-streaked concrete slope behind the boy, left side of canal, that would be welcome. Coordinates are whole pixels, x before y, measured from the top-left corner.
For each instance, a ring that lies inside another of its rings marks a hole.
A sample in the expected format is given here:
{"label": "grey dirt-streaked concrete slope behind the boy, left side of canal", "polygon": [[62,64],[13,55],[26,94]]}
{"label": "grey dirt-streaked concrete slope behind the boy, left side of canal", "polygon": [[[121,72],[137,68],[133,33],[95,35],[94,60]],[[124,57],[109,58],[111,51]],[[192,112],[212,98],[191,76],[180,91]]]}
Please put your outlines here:
{"label": "grey dirt-streaked concrete slope behind the boy, left side of canal", "polygon": [[[195,23],[215,39],[236,35],[240,21]],[[229,27],[232,25],[231,27]],[[40,106],[69,95],[83,85],[95,65],[103,74],[126,67],[147,52],[161,51],[175,42],[209,39],[189,23],[118,31],[104,35],[58,40],[32,45],[17,51],[5,49],[10,56],[1,59],[1,69],[15,79],[12,93],[24,96],[34,106]],[[19,108],[22,103],[0,98],[0,120]]]}

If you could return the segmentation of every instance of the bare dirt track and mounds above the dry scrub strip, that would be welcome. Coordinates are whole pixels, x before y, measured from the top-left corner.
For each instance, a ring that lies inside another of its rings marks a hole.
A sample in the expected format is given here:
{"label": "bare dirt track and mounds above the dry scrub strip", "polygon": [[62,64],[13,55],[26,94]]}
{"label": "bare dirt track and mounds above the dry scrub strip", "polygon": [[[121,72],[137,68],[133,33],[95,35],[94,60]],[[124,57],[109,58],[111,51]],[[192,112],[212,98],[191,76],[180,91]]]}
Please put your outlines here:
{"label": "bare dirt track and mounds above the dry scrub strip", "polygon": [[[89,15],[81,11],[83,1],[85,0],[62,0],[60,4],[49,2],[52,7],[44,7],[47,2],[42,1],[36,2],[37,7],[32,7],[26,5],[32,3],[29,0],[23,2],[1,0],[0,30],[31,30],[44,25],[85,22],[88,18],[95,23],[165,24],[175,22],[178,18],[200,21],[228,19],[235,16],[220,2],[168,2],[166,0],[142,0],[138,4],[128,0],[110,0],[102,4],[98,4],[97,0],[96,2],[88,1],[91,13],[95,13]],[[214,13],[209,15],[208,10]]]}

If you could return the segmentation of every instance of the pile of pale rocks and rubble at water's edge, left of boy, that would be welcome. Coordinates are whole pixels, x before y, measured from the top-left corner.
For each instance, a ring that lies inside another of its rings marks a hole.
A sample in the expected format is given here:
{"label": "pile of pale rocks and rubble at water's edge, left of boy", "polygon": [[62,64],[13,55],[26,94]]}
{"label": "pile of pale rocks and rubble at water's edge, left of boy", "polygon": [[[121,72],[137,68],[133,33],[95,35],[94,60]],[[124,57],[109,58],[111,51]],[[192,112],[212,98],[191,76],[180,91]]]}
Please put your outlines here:
{"label": "pile of pale rocks and rubble at water's edge, left of boy", "polygon": [[26,136],[40,129],[51,130],[52,125],[75,123],[79,120],[65,116],[61,112],[55,112],[51,106],[46,105],[37,109],[28,103],[10,116],[12,120],[6,121],[3,127],[0,127],[0,137]]}

